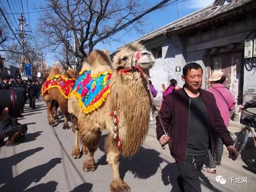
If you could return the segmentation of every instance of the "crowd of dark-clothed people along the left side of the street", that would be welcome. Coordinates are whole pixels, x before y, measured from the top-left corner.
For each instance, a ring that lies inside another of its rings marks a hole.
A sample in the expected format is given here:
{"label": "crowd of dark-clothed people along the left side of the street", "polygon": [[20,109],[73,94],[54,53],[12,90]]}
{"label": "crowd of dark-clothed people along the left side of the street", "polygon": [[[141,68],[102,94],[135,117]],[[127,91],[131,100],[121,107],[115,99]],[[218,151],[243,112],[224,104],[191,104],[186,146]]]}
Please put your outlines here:
{"label": "crowd of dark-clothed people along the left side of the street", "polygon": [[[36,109],[36,98],[39,99],[41,84],[36,80],[23,81],[22,77],[19,75],[17,80],[11,80],[8,76],[3,78],[0,82],[0,90],[15,90],[16,88],[22,88],[21,95],[17,95],[22,98],[23,104],[20,109],[20,114],[24,113],[24,106],[29,101],[30,108]],[[15,146],[18,145],[24,138],[27,131],[27,126],[18,123],[17,116],[8,115],[8,108],[4,109],[2,117],[0,120],[0,145],[2,146]],[[4,141],[4,138],[8,137],[8,140]]]}

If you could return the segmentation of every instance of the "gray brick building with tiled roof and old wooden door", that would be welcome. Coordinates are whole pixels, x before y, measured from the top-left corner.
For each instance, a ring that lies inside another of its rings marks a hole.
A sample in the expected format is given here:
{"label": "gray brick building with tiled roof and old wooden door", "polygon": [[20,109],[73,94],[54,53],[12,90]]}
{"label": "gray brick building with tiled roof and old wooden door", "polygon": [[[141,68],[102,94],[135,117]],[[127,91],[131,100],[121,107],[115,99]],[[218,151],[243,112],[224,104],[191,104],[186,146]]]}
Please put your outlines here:
{"label": "gray brick building with tiled roof and old wooden door", "polygon": [[237,104],[256,96],[256,65],[244,59],[244,41],[256,37],[256,0],[216,0],[210,6],[176,20],[133,42],[140,42],[156,58],[150,76],[162,100],[162,84],[174,78],[178,84],[186,63],[203,68],[202,88],[208,89],[210,75],[221,70],[225,86]]}

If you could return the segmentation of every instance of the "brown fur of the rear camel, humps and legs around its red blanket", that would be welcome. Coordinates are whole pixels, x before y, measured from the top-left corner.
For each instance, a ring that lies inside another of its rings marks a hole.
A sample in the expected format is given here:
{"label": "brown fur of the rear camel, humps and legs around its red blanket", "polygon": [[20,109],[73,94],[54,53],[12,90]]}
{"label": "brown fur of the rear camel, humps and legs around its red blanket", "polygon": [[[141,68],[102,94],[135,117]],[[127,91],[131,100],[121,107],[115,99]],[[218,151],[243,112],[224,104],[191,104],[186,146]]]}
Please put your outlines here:
{"label": "brown fur of the rear camel, humps and legs around its red blanket", "polygon": [[[52,68],[49,78],[53,77],[56,74],[60,74],[60,70],[58,68]],[[64,74],[62,74],[66,78],[75,78],[77,75],[76,70],[69,69]],[[64,98],[62,94],[60,93],[60,90],[58,88],[50,88],[48,90],[48,97],[46,98],[46,106],[47,106],[47,113],[48,113],[48,120],[50,125],[54,125],[54,118],[52,116],[52,109],[56,104],[60,107],[60,111],[64,114],[64,124],[63,129],[69,129],[68,126],[68,99]],[[72,120],[72,118],[71,118]]]}

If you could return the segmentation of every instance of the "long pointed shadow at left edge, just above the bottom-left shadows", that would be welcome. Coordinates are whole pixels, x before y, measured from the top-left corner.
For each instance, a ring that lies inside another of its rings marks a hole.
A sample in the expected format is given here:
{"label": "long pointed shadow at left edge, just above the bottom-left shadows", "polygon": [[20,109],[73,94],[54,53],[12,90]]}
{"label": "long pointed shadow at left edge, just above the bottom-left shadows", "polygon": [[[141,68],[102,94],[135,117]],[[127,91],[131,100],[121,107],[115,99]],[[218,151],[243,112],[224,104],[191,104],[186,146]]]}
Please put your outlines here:
{"label": "long pointed shadow at left edge, just above the bottom-left shadows", "polygon": [[[9,182],[10,180],[12,180],[12,178],[13,178],[12,166],[18,164],[22,160],[26,159],[27,157],[29,157],[43,149],[44,149],[43,147],[38,147],[35,149],[30,149],[30,150],[26,150],[24,152],[20,152],[18,154],[14,154],[10,157],[1,158],[0,164],[2,165],[1,166],[2,174],[0,174],[0,184],[6,183],[6,182]],[[1,188],[0,188],[0,191],[4,191],[4,190],[1,190]],[[6,191],[8,191],[8,190],[6,190]]]}

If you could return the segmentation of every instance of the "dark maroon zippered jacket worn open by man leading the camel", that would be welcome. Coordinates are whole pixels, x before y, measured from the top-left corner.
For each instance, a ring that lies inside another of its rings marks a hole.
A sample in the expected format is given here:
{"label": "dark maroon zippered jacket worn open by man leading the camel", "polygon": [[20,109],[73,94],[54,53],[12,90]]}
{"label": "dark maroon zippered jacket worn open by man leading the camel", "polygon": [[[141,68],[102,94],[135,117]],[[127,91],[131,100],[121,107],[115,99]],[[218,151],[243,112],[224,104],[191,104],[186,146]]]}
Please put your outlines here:
{"label": "dark maroon zippered jacket worn open by man leading the camel", "polygon": [[[199,91],[200,99],[206,108],[209,123],[211,138],[209,149],[211,150],[213,157],[215,157],[217,138],[220,137],[226,146],[233,145],[233,139],[220,115],[214,95],[203,89],[200,89]],[[159,111],[159,116],[156,117],[157,139],[159,140],[164,134],[160,126],[159,118],[161,118],[164,129],[170,136],[170,153],[172,157],[181,164],[185,164],[189,110],[190,97],[184,88],[181,88],[166,96],[162,108]],[[198,133],[198,136],[203,137],[200,133]]]}

